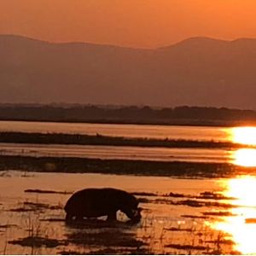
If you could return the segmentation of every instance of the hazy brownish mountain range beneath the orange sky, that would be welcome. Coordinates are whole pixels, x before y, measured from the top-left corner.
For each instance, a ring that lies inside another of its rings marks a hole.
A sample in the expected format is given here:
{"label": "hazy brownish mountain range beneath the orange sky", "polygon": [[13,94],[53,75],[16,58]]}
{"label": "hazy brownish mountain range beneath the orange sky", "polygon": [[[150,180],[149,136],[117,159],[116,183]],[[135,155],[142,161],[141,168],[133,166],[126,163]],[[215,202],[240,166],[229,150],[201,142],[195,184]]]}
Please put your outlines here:
{"label": "hazy brownish mountain range beneath the orange sky", "polygon": [[0,35],[0,102],[256,109],[256,39],[159,49]]}

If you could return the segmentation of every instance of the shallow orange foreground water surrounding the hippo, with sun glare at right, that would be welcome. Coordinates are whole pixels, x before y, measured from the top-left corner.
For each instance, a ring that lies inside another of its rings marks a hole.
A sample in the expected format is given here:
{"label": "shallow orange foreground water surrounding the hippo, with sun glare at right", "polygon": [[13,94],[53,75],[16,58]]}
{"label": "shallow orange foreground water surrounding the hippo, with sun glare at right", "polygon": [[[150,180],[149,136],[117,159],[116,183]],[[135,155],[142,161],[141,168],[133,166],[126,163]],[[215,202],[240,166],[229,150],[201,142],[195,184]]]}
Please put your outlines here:
{"label": "shallow orange foreground water surrounding the hippo, with sun glare at right", "polygon": [[[256,220],[255,177],[236,177],[232,179],[177,179],[167,177],[129,177],[100,174],[65,174],[65,173],[29,173],[1,172],[0,209],[0,248],[3,253],[61,253],[70,248],[76,252],[88,252],[93,246],[81,246],[69,243],[68,246],[53,248],[40,247],[32,251],[31,247],[20,247],[8,244],[20,237],[26,237],[28,228],[38,227],[41,236],[49,236],[65,240],[70,234],[85,232],[101,232],[102,230],[81,230],[70,228],[58,221],[65,217],[61,209],[70,195],[27,194],[25,189],[55,189],[58,191],[75,191],[89,187],[115,187],[130,192],[151,192],[158,196],[143,196],[148,201],[141,203],[143,220],[141,224],[125,228],[132,236],[148,243],[151,253],[189,253],[189,251],[173,250],[170,244],[190,245],[190,252],[195,254],[211,253],[256,253],[254,237],[256,224],[248,219]],[[170,192],[183,195],[175,198]],[[196,199],[204,193],[217,193],[220,199]],[[141,197],[141,196],[138,196]],[[184,200],[202,203],[201,207],[193,207],[183,203]],[[26,202],[43,203],[49,206],[60,206],[55,210],[14,211],[25,206]],[[211,203],[212,202],[212,205]],[[191,216],[189,218],[189,216]],[[193,216],[195,216],[193,218]],[[206,218],[207,217],[207,218]],[[45,221],[47,219],[56,221]],[[120,220],[124,217],[119,214]],[[89,233],[88,233],[89,232]],[[152,244],[154,246],[152,246]],[[207,249],[201,250],[200,247]],[[195,247],[195,248],[194,248]]]}

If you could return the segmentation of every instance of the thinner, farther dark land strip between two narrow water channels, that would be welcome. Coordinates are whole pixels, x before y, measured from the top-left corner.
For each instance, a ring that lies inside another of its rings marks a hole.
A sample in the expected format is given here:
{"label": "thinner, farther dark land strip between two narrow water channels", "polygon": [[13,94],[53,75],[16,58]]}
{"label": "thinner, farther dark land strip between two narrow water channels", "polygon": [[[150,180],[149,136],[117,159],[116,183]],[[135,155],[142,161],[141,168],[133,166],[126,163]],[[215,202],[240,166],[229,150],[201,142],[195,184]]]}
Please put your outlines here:
{"label": "thinner, farther dark land strip between two narrow water channels", "polygon": [[[161,147],[161,148],[240,148],[230,142],[197,141],[183,139],[153,139],[110,137],[64,133],[0,132],[0,143],[73,144],[97,146]],[[246,147],[246,146],[244,146]]]}

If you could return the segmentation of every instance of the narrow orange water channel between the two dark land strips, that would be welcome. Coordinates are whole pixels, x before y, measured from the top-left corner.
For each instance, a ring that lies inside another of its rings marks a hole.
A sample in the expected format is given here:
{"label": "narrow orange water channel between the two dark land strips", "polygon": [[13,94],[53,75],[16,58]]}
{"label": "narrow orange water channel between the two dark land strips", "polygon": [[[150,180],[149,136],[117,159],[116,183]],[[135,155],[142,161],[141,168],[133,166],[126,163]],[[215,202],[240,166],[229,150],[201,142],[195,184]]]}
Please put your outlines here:
{"label": "narrow orange water channel between the two dark land strips", "polygon": [[158,160],[189,162],[232,162],[235,152],[201,148],[142,148],[80,145],[0,143],[1,155],[86,157],[94,159]]}

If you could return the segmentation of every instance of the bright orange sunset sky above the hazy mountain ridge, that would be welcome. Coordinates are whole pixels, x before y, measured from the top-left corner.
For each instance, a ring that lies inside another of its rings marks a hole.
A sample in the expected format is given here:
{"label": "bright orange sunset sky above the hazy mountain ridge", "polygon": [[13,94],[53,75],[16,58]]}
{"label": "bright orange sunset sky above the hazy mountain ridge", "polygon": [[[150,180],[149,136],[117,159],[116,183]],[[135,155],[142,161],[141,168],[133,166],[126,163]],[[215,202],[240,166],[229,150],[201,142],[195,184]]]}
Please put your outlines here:
{"label": "bright orange sunset sky above the hazy mountain ridge", "polygon": [[0,33],[151,48],[256,38],[256,0],[0,0]]}

